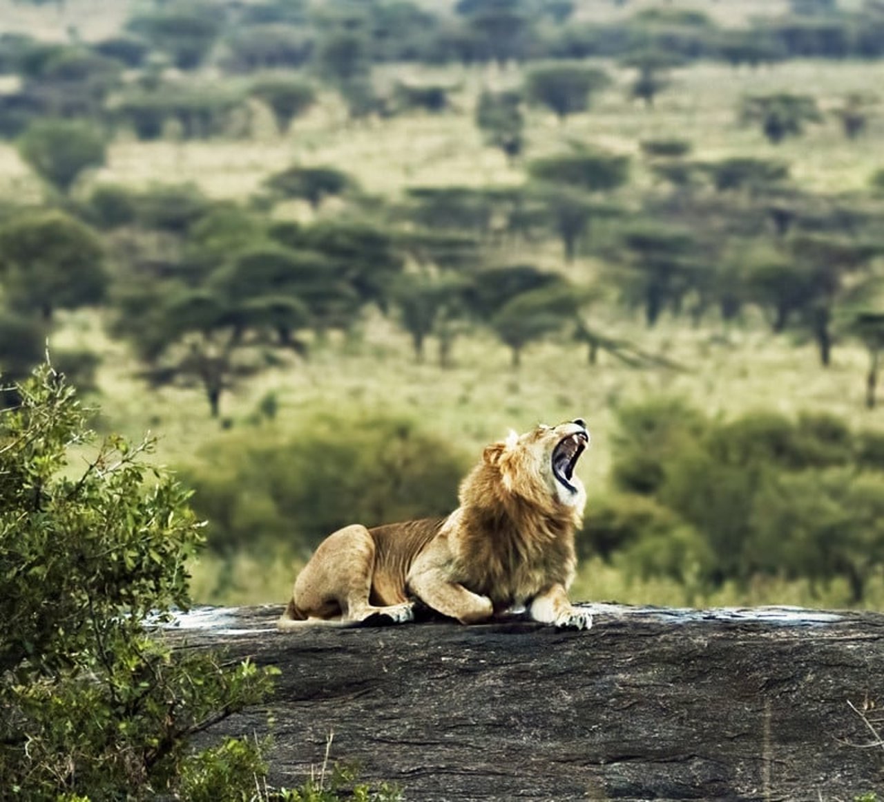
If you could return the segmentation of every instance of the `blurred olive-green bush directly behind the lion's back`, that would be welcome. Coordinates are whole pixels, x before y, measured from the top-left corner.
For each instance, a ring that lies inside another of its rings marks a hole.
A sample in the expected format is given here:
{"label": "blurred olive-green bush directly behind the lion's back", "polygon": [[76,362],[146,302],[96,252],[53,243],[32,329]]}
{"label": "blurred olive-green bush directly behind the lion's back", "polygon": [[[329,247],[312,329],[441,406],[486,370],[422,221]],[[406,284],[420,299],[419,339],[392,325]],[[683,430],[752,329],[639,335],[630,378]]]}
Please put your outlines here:
{"label": "blurred olive-green bush directly behind the lion's back", "polygon": [[278,431],[221,436],[183,467],[209,546],[232,553],[282,545],[304,553],[350,523],[443,516],[469,461],[406,419],[354,415]]}

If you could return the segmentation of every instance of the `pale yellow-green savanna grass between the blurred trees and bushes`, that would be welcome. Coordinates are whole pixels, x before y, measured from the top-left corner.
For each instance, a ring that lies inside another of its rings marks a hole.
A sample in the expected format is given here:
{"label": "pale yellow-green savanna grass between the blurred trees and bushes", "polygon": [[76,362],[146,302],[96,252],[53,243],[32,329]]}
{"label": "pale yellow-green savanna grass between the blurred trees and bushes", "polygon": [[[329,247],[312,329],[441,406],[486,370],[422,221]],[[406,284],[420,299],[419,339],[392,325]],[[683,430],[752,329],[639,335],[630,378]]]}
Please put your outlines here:
{"label": "pale yellow-green savanna grass between the blurred trees and bushes", "polygon": [[[96,41],[113,35],[130,14],[149,5],[118,2],[109,11],[100,0],[67,0],[60,9],[0,0],[0,33],[64,42],[75,26],[83,41]],[[649,0],[617,5],[583,0],[576,4],[574,19],[607,24],[657,7],[704,12],[722,27],[748,26],[758,15],[773,18],[789,12],[785,2]],[[844,2],[841,7],[850,12],[863,6]],[[187,139],[173,132],[140,141],[120,130],[110,140],[103,166],[89,170],[73,186],[72,203],[86,203],[95,187],[104,184],[139,191],[157,183],[185,183],[211,201],[248,205],[261,195],[265,181],[287,166],[334,166],[358,185],[354,197],[330,197],[316,209],[288,199],[266,213],[272,220],[296,220],[305,226],[354,216],[382,220],[385,208],[408,199],[409,189],[519,189],[529,181],[531,160],[554,157],[575,143],[589,145],[629,157],[629,181],[606,196],[619,214],[593,220],[570,263],[562,257],[558,238],[549,234],[492,237],[484,243],[481,258],[492,266],[538,266],[561,274],[575,287],[591,288],[591,298],[581,310],[583,319],[591,321],[593,330],[631,343],[650,359],[638,366],[624,364],[603,349],[591,364],[587,345],[560,331],[526,345],[521,365],[514,368],[507,345],[490,329],[471,323],[459,329],[453,341],[451,365],[440,367],[435,333],[428,336],[426,358],[418,362],[396,310],[384,314],[367,307],[346,332],[311,336],[309,355],[287,356],[237,382],[222,397],[217,420],[210,417],[198,387],[150,386],[139,376],[132,344],[107,328],[112,310],[92,305],[62,310],[57,312],[50,350],[92,351],[101,358],[95,391],[88,395],[101,407],[96,428],[135,437],[149,430],[158,437],[156,459],[181,467],[187,476],[194,471],[230,473],[228,464],[216,461],[221,459],[218,455],[235,463],[236,450],[249,439],[282,443],[314,428],[331,432],[333,439],[339,421],[344,438],[362,421],[368,427],[378,416],[407,420],[439,443],[451,445],[469,464],[485,443],[505,436],[509,428],[524,430],[537,422],[580,416],[592,434],[591,451],[580,467],[591,506],[614,492],[611,474],[622,434],[621,411],[635,405],[680,399],[720,423],[751,413],[778,413],[789,420],[798,420],[802,413],[827,414],[850,430],[884,432],[880,407],[865,405],[869,350],[846,328],[836,325],[832,362],[823,367],[805,328],[774,333],[758,306],[747,303],[728,320],[714,308],[698,320],[667,308],[649,327],[640,305],[624,303],[622,288],[610,278],[618,264],[616,243],[623,227],[648,215],[649,196],[662,197],[668,191],[642,150],[641,143],[651,140],[688,141],[690,159],[696,163],[736,157],[782,161],[789,166],[789,192],[826,198],[838,206],[857,204],[884,221],[870,183],[884,168],[884,108],[872,105],[865,130],[852,140],[833,113],[846,96],[874,93],[884,86],[884,60],[789,58],[760,66],[692,60],[667,69],[670,83],[652,107],[629,94],[633,68],[617,58],[585,61],[604,69],[610,85],[593,94],[588,111],[569,114],[563,122],[544,106],[527,104],[524,143],[517,158],[507,158],[485,143],[476,127],[475,109],[484,90],[522,86],[530,62],[379,64],[372,73],[379,91],[401,81],[441,85],[448,91],[446,108],[354,120],[339,92],[317,81],[316,103],[286,133],[279,133],[260,104],[253,104],[248,130],[234,127],[227,135]],[[248,82],[242,75],[222,75],[214,66],[186,74],[170,72],[170,80],[197,87],[221,82],[236,88]],[[0,81],[10,89],[16,85],[14,76]],[[821,113],[801,135],[771,143],[757,124],[740,120],[739,109],[747,95],[777,93],[812,95]],[[717,197],[712,189],[700,191]],[[48,197],[50,190],[20,156],[15,141],[0,142],[0,198],[41,204]],[[753,202],[752,197],[740,200]],[[685,218],[682,225],[701,225],[697,220]],[[125,260],[125,240],[111,250],[113,258]],[[739,260],[739,249],[736,253]],[[407,264],[406,269],[416,268]],[[867,269],[871,275],[880,274],[880,256],[873,256]],[[838,315],[836,323],[843,317]],[[431,463],[434,451],[428,447],[419,459]],[[333,493],[330,497],[333,503]],[[262,514],[253,513],[260,527]],[[211,538],[211,521],[208,531]],[[256,531],[255,538],[260,540],[261,533]],[[243,546],[224,553],[209,551],[194,564],[198,600],[263,603],[286,598],[304,552],[288,546],[284,532],[260,549]],[[849,582],[842,576],[819,582],[759,570],[740,580],[727,576],[704,583],[676,574],[639,570],[626,558],[588,556],[572,595],[653,604],[884,605],[884,581],[876,565],[866,570],[861,600],[851,598]]]}

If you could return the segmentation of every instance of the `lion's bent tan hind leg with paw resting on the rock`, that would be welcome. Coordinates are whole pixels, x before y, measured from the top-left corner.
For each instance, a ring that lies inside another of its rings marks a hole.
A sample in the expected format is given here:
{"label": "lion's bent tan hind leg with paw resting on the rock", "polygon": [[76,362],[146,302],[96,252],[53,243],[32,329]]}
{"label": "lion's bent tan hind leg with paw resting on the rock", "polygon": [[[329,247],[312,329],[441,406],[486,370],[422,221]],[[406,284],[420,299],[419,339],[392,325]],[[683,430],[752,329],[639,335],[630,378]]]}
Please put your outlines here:
{"label": "lion's bent tan hind leg with paw resting on the rock", "polygon": [[370,604],[375,549],[369,530],[361,524],[326,537],[294,583],[289,606],[299,618],[284,615],[279,627],[291,629],[326,622],[370,626],[413,621],[415,615],[409,602]]}

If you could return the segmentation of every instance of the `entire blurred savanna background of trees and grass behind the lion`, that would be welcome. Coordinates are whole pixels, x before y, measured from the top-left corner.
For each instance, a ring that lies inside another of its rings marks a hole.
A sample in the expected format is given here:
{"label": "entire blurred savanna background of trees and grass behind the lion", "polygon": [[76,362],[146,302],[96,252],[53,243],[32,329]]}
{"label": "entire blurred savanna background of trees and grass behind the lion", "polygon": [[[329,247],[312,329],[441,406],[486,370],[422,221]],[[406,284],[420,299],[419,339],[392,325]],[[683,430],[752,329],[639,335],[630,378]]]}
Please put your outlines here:
{"label": "entire blurred savanna background of trees and grass behind the lion", "polygon": [[880,608],[882,79],[880,0],[0,0],[0,370],[159,436],[197,600],[579,415],[575,598]]}

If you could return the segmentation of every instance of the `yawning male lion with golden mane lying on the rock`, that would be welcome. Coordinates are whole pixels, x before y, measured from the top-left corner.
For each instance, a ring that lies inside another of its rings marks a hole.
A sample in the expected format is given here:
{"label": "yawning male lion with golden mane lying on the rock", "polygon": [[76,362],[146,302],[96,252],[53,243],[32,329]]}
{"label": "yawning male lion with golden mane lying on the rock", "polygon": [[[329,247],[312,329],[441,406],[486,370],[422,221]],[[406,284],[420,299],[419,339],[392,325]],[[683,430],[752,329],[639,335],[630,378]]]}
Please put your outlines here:
{"label": "yawning male lion with golden mane lying on the rock", "polygon": [[524,609],[590,628],[591,614],[568,601],[586,503],[575,467],[589,443],[579,418],[511,432],[484,449],[447,518],[332,533],[297,576],[278,628],[404,623],[418,603],[463,624]]}

